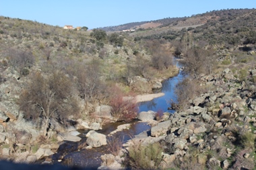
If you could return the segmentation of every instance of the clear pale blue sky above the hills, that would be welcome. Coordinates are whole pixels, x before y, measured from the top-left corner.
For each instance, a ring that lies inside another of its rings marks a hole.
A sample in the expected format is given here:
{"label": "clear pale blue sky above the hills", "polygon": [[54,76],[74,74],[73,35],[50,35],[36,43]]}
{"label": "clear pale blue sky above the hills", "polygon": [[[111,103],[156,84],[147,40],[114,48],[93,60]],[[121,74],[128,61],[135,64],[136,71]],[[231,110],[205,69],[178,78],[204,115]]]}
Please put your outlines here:
{"label": "clear pale blue sky above the hills", "polygon": [[256,8],[255,0],[0,0],[0,15],[89,29],[185,17],[220,9]]}

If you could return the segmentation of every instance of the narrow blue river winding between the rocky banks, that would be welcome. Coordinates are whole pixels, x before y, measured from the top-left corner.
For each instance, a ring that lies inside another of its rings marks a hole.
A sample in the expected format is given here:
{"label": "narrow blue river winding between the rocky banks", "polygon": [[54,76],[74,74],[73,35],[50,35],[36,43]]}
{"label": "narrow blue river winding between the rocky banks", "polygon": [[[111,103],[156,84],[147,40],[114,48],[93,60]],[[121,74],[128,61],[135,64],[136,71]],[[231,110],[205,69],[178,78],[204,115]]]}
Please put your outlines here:
{"label": "narrow blue river winding between the rocky banks", "polygon": [[[176,63],[177,67],[181,67],[179,63]],[[182,81],[184,75],[180,71],[179,74],[175,77],[167,79],[162,82],[162,89],[160,92],[165,93],[162,97],[153,99],[152,101],[141,102],[139,104],[139,112],[153,110],[154,112],[169,112],[170,114],[174,113],[174,110],[168,110],[171,102],[177,102],[177,96],[174,93],[175,86],[179,81]],[[103,130],[99,130],[99,133],[108,135],[110,132],[117,129],[117,126],[123,124],[123,122],[116,122],[113,124],[107,124],[103,126]],[[134,121],[131,122],[131,127],[129,130],[123,130],[117,132],[115,137],[121,138],[123,143],[131,139],[133,136],[150,130],[150,126],[145,122]],[[86,133],[88,131],[82,132],[80,137],[82,137],[82,142],[86,142]],[[107,140],[110,137],[107,136]],[[81,143],[81,142],[80,142]],[[53,155],[52,160],[57,162],[58,159],[68,160],[71,165],[77,165],[79,167],[99,167],[101,163],[100,156],[110,153],[108,146],[101,146],[99,148],[92,149],[81,149],[78,150],[77,142],[65,142],[62,144],[57,153]]]}

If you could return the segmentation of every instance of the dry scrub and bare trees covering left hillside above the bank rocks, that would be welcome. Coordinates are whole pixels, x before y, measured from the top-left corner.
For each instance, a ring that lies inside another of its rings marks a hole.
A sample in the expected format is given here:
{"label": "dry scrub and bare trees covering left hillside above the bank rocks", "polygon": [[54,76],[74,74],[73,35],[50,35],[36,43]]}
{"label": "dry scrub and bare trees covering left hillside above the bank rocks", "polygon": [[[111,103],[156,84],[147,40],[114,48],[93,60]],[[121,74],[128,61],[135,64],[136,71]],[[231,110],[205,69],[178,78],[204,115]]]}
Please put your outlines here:
{"label": "dry scrub and bare trees covering left hillside above the bank rocks", "polygon": [[[75,116],[90,119],[98,104],[112,105],[117,120],[132,120],[137,105],[122,97],[143,93],[143,84],[161,77],[159,71],[174,69],[168,42],[137,43],[127,34],[64,30],[9,17],[1,17],[0,26],[1,69],[18,72],[23,87],[17,103],[28,120],[44,125],[44,135],[49,120],[65,125]],[[146,82],[128,85],[135,76]]]}

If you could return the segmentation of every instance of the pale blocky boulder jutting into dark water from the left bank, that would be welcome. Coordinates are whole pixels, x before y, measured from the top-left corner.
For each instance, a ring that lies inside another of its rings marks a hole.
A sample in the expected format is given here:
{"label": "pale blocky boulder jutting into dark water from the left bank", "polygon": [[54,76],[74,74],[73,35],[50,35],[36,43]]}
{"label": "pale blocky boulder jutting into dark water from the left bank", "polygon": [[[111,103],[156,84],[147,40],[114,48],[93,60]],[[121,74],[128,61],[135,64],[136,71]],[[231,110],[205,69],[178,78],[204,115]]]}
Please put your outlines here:
{"label": "pale blocky boulder jutting into dark water from the left bank", "polygon": [[94,130],[91,130],[88,133],[90,133],[90,135],[88,136],[86,143],[89,146],[97,148],[106,145],[106,135],[95,132]]}

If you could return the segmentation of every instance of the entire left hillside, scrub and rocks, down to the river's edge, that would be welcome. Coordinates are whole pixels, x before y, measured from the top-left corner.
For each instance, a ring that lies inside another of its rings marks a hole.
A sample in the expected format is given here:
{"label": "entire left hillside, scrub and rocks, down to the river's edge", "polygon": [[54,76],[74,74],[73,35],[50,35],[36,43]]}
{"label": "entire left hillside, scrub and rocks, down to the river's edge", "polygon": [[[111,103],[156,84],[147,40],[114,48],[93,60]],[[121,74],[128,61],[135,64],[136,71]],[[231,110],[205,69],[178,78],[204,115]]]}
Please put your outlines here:
{"label": "entire left hillside, scrub and rocks, down to the river's edge", "polygon": [[[170,46],[157,43],[154,51],[127,34],[1,16],[1,159],[34,163],[57,152],[63,140],[82,140],[70,128],[99,130],[133,120],[137,103],[123,98],[152,93],[178,72]],[[98,112],[101,106],[108,112]]]}

